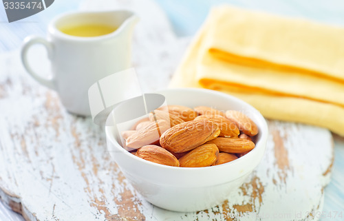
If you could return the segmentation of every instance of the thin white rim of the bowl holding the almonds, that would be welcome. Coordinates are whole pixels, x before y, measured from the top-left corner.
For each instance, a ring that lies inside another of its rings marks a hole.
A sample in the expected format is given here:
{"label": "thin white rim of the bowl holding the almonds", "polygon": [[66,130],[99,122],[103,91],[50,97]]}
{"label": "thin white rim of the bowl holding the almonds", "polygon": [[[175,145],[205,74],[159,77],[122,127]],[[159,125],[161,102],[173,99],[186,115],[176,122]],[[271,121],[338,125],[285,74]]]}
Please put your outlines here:
{"label": "thin white rim of the bowl holding the almonds", "polygon": [[[250,104],[246,103],[245,101],[242,101],[241,99],[239,99],[239,98],[237,98],[235,96],[232,96],[230,94],[224,94],[222,92],[217,92],[217,91],[214,91],[214,90],[208,90],[208,89],[203,89],[203,88],[202,89],[201,88],[169,88],[169,89],[164,89],[164,90],[158,90],[156,93],[159,94],[160,92],[164,92],[164,91],[171,91],[171,92],[173,92],[173,91],[181,91],[181,90],[184,90],[185,92],[188,92],[188,91],[207,92],[207,93],[215,94],[217,96],[224,96],[224,97],[233,99],[235,102],[241,103],[244,106],[248,106],[248,109],[255,110],[255,115],[257,115],[257,118],[259,118],[259,120],[261,121],[261,123],[259,123],[259,124],[257,124],[257,122],[255,121],[255,123],[257,125],[261,126],[261,127],[259,127],[259,129],[260,129],[259,133],[261,133],[261,136],[257,140],[257,143],[255,143],[255,148],[253,148],[251,151],[249,151],[248,154],[250,154],[250,155],[255,154],[255,152],[258,151],[257,149],[261,149],[261,148],[263,148],[264,151],[265,151],[266,144],[264,144],[263,142],[264,142],[264,140],[266,140],[268,138],[268,124],[266,123],[266,120],[265,120],[264,116],[262,116],[260,114],[260,112],[257,109],[255,109],[255,107],[252,107],[252,105],[250,105]],[[111,143],[113,145],[115,145],[118,149],[120,149],[120,151],[122,153],[125,153],[130,158],[133,158],[135,160],[139,160],[142,163],[145,163],[147,165],[152,165],[152,166],[155,166],[155,167],[161,167],[162,169],[169,169],[169,170],[175,170],[175,171],[181,171],[181,170],[183,170],[183,171],[216,170],[217,168],[220,169],[222,167],[228,167],[229,165],[236,164],[239,161],[246,160],[246,158],[248,156],[248,154],[246,154],[246,155],[241,156],[240,158],[237,158],[237,159],[235,159],[233,161],[226,162],[226,163],[224,163],[222,165],[215,165],[215,166],[211,166],[211,167],[172,167],[172,166],[168,166],[168,165],[161,165],[161,164],[158,164],[156,162],[151,162],[149,160],[144,160],[142,158],[139,158],[138,156],[134,156],[129,151],[125,150],[117,142],[116,138],[114,137],[113,134],[110,133],[109,130],[110,129],[108,127],[105,127],[105,134],[106,134],[107,138],[109,138]]]}

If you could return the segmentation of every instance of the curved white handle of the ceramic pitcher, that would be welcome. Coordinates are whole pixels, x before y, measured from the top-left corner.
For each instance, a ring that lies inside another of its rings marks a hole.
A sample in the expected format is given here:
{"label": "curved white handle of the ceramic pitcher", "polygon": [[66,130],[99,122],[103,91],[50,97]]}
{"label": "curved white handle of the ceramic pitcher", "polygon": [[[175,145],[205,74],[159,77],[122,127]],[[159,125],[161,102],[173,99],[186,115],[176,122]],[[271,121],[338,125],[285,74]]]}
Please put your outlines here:
{"label": "curved white handle of the ceramic pitcher", "polygon": [[54,76],[52,78],[43,78],[39,76],[39,74],[36,74],[34,72],[28,62],[28,50],[29,48],[34,44],[41,44],[45,46],[47,50],[47,56],[51,60],[53,55],[53,45],[49,41],[43,39],[40,36],[28,36],[24,39],[23,46],[21,48],[21,61],[23,62],[23,65],[25,69],[28,71],[28,73],[39,83],[42,85],[45,85],[45,87],[49,87],[52,90],[56,90],[56,87],[54,85]]}

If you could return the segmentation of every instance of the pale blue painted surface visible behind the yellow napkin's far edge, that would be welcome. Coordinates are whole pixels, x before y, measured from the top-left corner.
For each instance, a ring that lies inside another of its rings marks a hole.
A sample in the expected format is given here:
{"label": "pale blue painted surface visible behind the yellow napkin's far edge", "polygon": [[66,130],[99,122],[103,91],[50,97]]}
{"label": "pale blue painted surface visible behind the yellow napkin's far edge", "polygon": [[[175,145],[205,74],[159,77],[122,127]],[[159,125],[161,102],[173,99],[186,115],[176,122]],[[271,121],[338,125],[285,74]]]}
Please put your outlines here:
{"label": "pale blue painted surface visible behind the yellow napkin's far edge", "polygon": [[[200,28],[211,6],[229,3],[290,17],[303,17],[344,27],[342,0],[156,0],[166,11],[179,36],[193,35]],[[178,3],[177,3],[178,2]]]}

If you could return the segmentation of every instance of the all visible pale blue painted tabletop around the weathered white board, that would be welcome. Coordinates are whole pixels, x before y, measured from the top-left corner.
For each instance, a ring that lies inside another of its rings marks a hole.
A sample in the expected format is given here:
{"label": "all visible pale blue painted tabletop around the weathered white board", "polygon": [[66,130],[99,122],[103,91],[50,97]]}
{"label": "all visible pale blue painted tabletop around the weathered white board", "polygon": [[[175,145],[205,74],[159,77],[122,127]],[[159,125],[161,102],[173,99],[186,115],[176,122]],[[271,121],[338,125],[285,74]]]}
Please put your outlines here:
{"label": "all visible pale blue painted tabletop around the weathered white board", "polygon": [[[96,0],[95,0],[96,1]],[[144,1],[144,0],[142,0]],[[331,23],[344,27],[344,1],[343,0],[155,0],[168,15],[178,36],[195,34],[211,6],[221,3],[230,3],[233,6],[252,8],[283,14],[292,17],[304,17],[323,23]],[[0,1],[1,2],[1,1]],[[32,17],[7,23],[5,11],[0,3],[0,53],[16,50],[21,42],[30,34],[45,36],[46,26],[57,14],[76,10],[78,0],[56,0],[54,4]],[[343,36],[344,37],[344,36]],[[1,73],[0,73],[1,74]],[[344,138],[335,139],[335,161],[332,181],[325,188],[325,206],[322,221],[344,220]],[[5,211],[0,205],[1,211]],[[331,213],[330,213],[331,212]],[[334,214],[337,212],[336,218]],[[342,218],[338,217],[342,213]],[[9,214],[2,212],[2,214]],[[326,215],[326,217],[324,217]],[[6,220],[17,220],[8,218]]]}

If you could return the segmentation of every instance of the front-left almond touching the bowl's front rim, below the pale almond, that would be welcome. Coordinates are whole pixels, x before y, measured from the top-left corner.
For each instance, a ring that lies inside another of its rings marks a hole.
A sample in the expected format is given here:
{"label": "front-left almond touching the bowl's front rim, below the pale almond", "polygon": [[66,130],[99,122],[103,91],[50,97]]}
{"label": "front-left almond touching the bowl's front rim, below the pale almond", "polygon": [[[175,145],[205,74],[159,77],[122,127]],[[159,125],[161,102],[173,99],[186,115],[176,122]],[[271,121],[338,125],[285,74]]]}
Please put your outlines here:
{"label": "front-left almond touching the bowl's front rim, below the pale almond", "polygon": [[160,165],[179,167],[179,161],[173,154],[162,147],[147,145],[136,151],[136,156],[144,160],[156,162]]}

